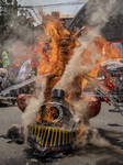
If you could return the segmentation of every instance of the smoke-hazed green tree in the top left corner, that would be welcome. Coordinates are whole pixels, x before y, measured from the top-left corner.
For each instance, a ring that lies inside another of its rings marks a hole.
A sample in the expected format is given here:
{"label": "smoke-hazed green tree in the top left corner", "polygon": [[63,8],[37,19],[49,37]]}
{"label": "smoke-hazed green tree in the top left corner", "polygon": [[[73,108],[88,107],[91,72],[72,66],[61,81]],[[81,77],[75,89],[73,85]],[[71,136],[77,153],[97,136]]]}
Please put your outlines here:
{"label": "smoke-hazed green tree in the top left corner", "polygon": [[[16,0],[0,0],[0,43],[8,40],[29,42],[34,30],[34,19],[29,10],[20,8]],[[19,10],[21,9],[21,10]]]}

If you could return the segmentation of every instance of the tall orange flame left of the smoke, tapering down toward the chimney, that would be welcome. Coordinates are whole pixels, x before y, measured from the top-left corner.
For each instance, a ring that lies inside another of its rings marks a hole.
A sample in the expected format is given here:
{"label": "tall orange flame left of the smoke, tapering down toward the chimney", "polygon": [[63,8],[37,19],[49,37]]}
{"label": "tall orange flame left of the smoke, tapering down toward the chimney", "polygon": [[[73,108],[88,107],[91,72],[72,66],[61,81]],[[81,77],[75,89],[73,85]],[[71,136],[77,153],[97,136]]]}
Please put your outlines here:
{"label": "tall orange flame left of the smoke, tapering down toward the chimney", "polygon": [[[53,22],[51,22],[51,20]],[[49,99],[53,87],[64,74],[65,67],[72,55],[72,51],[77,46],[77,41],[76,37],[72,37],[70,32],[63,26],[59,20],[49,19],[44,30],[48,42],[45,40],[40,43],[42,56],[40,59],[38,75],[51,75],[47,85],[47,98]]]}

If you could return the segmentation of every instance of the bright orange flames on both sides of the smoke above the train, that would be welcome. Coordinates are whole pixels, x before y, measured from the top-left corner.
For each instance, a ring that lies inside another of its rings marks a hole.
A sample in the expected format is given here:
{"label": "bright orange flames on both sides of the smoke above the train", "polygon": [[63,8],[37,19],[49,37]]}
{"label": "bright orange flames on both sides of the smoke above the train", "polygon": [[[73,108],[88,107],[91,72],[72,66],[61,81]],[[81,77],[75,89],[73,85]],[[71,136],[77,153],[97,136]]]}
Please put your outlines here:
{"label": "bright orange flames on both sides of the smoke above the train", "polygon": [[[74,48],[79,46],[77,43],[78,33],[74,34],[68,32],[62,24],[58,19],[53,19],[48,15],[46,20],[45,37],[41,37],[40,40],[40,66],[37,68],[38,75],[49,74],[51,80],[48,82],[48,98],[51,98],[51,91],[53,87],[60,79],[64,74],[65,67],[68,64],[68,61],[71,58],[74,54]],[[86,28],[85,35],[91,30]],[[92,68],[87,73],[92,77],[97,77],[100,65],[108,59],[122,58],[122,55],[118,48],[114,48],[108,41],[105,41],[102,36],[97,36],[94,41],[91,43],[93,45],[93,50],[90,50],[91,45],[88,45],[88,48],[82,52],[82,62],[81,66],[86,66],[88,64],[91,65],[92,58],[94,57],[94,53],[99,54],[99,58],[97,63],[92,65]],[[81,70],[82,72],[82,70]],[[78,75],[78,77],[81,77]],[[74,88],[77,86],[80,79],[75,80],[72,84]],[[87,81],[82,81],[82,89],[85,88]],[[70,94],[71,95],[71,94]],[[74,94],[75,95],[75,94]],[[69,96],[68,96],[69,97]]]}

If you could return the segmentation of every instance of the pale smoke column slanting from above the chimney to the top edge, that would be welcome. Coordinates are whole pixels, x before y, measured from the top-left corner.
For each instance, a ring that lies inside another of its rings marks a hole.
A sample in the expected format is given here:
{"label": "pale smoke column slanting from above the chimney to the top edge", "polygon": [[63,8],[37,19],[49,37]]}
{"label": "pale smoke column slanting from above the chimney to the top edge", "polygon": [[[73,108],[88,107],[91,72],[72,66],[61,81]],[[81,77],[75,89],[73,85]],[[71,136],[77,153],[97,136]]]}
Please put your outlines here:
{"label": "pale smoke column slanting from above the chimney to the top edge", "polygon": [[[89,73],[97,64],[97,61],[101,58],[101,55],[96,51],[96,45],[93,43],[94,38],[99,36],[100,30],[109,21],[110,13],[114,8],[116,0],[90,0],[87,6],[86,14],[89,15],[88,23],[93,24],[94,29],[89,32],[86,36],[79,38],[80,46],[75,50],[75,53],[66,66],[65,73],[60,81],[56,85],[56,88],[63,88],[66,90],[72,82],[74,78],[79,74]],[[92,7],[92,8],[91,8]],[[91,14],[91,15],[90,15]],[[92,52],[91,62],[87,63],[85,66],[81,65],[85,61],[85,50],[90,50]]]}

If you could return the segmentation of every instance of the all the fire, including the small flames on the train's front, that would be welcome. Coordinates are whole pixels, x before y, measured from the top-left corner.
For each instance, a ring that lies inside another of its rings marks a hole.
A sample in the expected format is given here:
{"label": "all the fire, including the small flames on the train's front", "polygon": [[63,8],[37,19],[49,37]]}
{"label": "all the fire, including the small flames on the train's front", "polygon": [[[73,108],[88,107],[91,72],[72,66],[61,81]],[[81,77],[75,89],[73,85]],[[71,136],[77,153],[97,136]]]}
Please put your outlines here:
{"label": "all the fire, including the small flames on the train's front", "polygon": [[[92,30],[88,28],[85,29],[86,31],[81,37],[88,41],[88,34]],[[45,99],[47,101],[51,100],[52,89],[64,75],[65,68],[72,58],[76,47],[80,47],[78,52],[81,56],[79,62],[81,72],[79,70],[79,74],[75,76],[71,82],[72,89],[67,94],[66,100],[70,103],[72,103],[72,98],[78,97],[80,99],[82,89],[87,84],[87,80],[83,79],[85,74],[97,77],[100,65],[104,61],[122,58],[120,51],[110,45],[101,35],[97,35],[93,40],[87,42],[89,43],[87,47],[82,47],[80,42],[78,42],[79,33],[74,34],[74,32],[68,32],[58,19],[48,16],[44,31],[45,37],[41,37],[40,42],[41,58],[38,75],[49,74],[45,90]],[[51,110],[51,108],[47,109]],[[47,117],[45,117],[46,121],[53,120],[52,116],[53,114],[47,111]]]}

